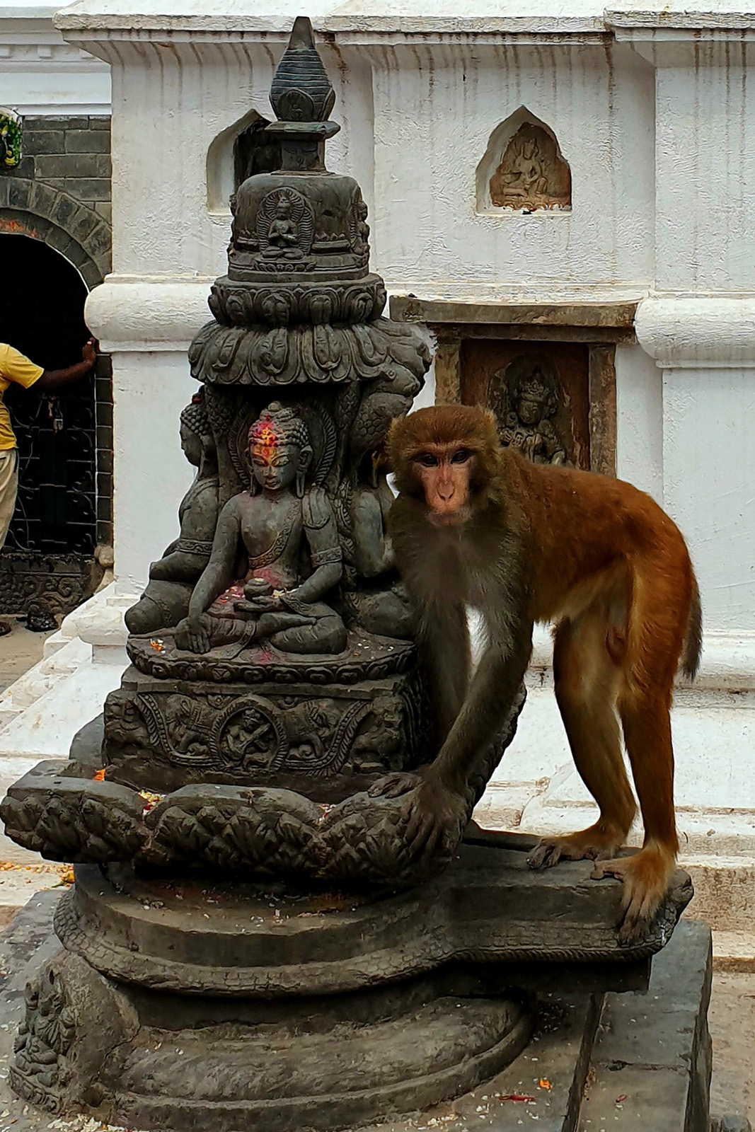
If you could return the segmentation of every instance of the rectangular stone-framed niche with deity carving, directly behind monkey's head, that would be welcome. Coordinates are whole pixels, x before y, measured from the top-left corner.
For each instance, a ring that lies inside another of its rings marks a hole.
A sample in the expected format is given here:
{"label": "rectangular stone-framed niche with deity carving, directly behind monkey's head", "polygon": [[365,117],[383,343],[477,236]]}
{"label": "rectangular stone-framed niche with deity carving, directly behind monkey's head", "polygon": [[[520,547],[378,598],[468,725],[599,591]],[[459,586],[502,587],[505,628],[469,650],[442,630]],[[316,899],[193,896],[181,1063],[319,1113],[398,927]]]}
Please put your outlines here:
{"label": "rectangular stone-framed niche with deity carving, directly behind monkey's head", "polygon": [[392,318],[436,335],[436,404],[491,408],[504,443],[603,475],[616,475],[616,346],[635,340],[635,309],[391,300]]}

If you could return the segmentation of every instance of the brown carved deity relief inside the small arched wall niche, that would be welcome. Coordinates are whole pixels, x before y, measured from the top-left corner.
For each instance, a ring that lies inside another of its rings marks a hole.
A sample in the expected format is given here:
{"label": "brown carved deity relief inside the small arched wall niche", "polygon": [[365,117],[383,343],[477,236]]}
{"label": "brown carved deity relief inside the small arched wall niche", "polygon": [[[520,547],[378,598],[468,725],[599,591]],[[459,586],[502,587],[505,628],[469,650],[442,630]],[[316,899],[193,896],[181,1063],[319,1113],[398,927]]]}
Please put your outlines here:
{"label": "brown carved deity relief inside the small arched wall niche", "polygon": [[499,208],[569,208],[572,173],[558,143],[542,126],[525,122],[490,178],[490,200]]}

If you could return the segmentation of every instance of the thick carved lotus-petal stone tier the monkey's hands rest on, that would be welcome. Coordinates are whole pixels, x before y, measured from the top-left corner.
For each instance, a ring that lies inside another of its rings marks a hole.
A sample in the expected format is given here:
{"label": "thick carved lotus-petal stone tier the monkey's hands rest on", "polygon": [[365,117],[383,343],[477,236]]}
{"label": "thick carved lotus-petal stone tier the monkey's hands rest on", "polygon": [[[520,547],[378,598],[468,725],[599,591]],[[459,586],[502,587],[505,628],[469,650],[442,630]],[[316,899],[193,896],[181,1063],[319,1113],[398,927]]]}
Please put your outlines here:
{"label": "thick carved lotus-petal stone tier the monkey's hands rest on", "polygon": [[[457,825],[447,827],[429,852],[409,851],[405,797],[372,798],[362,789],[327,804],[295,790],[206,780],[161,797],[98,781],[95,763],[75,761],[38,763],[10,787],[0,818],[12,841],[51,860],[131,861],[299,884],[335,881],[361,892],[411,887],[453,859],[474,805],[514,738],[523,703],[522,689],[498,739],[475,766]],[[153,777],[156,765],[155,757]],[[111,770],[119,772],[118,765]],[[316,787],[317,779],[314,794]]]}

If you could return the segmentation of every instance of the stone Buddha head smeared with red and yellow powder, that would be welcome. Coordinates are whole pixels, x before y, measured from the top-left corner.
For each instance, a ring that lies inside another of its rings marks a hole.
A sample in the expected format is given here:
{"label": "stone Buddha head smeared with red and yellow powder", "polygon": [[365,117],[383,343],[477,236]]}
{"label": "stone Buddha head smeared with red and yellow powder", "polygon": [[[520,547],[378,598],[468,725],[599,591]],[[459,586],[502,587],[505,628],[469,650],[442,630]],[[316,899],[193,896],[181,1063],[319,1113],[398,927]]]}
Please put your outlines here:
{"label": "stone Buddha head smeared with red and yellow powder", "polygon": [[299,497],[304,494],[307,471],[312,449],[309,432],[293,409],[274,401],[249,429],[252,491],[283,491],[295,484]]}

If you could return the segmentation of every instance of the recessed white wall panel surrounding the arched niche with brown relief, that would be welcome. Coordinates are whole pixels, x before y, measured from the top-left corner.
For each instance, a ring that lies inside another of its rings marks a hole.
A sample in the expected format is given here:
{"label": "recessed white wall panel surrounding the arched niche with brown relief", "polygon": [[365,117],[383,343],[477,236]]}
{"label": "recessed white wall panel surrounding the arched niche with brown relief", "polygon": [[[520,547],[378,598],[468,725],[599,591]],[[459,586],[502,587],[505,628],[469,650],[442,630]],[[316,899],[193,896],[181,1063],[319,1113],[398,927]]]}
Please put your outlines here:
{"label": "recessed white wall panel surrounding the arched niche with brown relief", "polygon": [[[652,283],[654,85],[637,54],[419,43],[375,62],[375,256],[392,285],[461,297]],[[477,212],[478,163],[521,106],[556,134],[570,213]]]}

